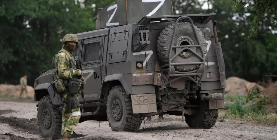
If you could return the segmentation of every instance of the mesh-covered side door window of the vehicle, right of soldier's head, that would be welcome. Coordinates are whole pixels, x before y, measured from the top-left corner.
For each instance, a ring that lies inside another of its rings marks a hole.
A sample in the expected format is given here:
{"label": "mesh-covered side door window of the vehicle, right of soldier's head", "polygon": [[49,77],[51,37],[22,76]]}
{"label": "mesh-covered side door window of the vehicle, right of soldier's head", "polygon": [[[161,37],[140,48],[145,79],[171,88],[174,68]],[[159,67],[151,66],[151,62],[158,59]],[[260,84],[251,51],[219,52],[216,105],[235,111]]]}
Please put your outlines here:
{"label": "mesh-covered side door window of the vehicle, right of soldier's head", "polygon": [[101,42],[85,44],[83,62],[91,62],[99,60]]}

